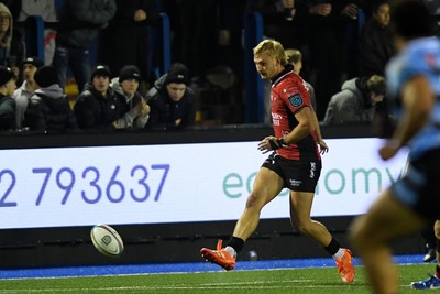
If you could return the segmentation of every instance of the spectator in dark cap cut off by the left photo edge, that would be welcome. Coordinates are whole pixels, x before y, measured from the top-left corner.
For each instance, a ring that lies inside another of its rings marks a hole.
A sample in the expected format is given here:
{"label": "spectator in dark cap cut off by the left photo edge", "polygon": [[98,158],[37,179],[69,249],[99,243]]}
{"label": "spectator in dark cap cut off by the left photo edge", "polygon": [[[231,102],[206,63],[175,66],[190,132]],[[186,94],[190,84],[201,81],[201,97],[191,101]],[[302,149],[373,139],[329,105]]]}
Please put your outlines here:
{"label": "spectator in dark cap cut off by the left photo edge", "polygon": [[15,79],[11,68],[0,66],[0,131],[15,129],[15,100],[11,97],[16,88]]}

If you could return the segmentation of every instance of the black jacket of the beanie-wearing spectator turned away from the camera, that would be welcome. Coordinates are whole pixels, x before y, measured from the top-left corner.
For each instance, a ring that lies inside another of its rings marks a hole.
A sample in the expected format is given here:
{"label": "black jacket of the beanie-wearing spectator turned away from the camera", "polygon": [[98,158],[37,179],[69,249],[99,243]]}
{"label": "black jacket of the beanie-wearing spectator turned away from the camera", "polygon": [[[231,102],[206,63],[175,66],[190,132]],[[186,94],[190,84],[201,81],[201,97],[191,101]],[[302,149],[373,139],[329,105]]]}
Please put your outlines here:
{"label": "black jacket of the beanie-wearing spectator turned away from the camera", "polygon": [[77,129],[67,96],[59,85],[37,89],[31,96],[24,115],[24,126],[32,131],[65,131]]}

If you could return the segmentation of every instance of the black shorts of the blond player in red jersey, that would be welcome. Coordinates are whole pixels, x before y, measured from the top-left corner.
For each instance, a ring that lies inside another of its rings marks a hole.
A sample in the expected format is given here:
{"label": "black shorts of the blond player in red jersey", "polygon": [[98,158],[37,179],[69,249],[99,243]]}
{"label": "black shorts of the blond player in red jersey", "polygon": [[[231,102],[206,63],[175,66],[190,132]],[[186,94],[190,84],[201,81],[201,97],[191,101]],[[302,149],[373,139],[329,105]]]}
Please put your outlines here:
{"label": "black shorts of the blond player in red jersey", "polygon": [[315,193],[322,163],[321,161],[292,161],[272,154],[264,161],[262,167],[277,173],[284,179],[285,187],[290,190]]}

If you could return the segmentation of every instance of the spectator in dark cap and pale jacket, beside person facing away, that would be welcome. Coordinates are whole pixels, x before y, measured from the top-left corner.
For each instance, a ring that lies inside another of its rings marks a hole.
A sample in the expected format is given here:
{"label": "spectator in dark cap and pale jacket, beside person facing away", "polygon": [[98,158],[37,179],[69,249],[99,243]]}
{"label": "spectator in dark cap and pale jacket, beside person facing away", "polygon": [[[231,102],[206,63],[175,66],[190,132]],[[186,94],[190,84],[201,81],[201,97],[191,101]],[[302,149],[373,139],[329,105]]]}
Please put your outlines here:
{"label": "spectator in dark cap and pale jacket, beside person facing away", "polygon": [[20,88],[15,89],[13,98],[15,99],[16,110],[16,128],[21,129],[24,122],[24,112],[28,109],[29,98],[38,88],[36,85],[34,75],[36,70],[43,66],[43,62],[38,57],[28,57],[23,62],[22,73],[24,81]]}

